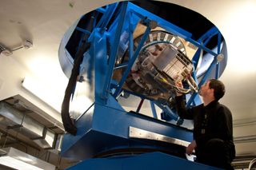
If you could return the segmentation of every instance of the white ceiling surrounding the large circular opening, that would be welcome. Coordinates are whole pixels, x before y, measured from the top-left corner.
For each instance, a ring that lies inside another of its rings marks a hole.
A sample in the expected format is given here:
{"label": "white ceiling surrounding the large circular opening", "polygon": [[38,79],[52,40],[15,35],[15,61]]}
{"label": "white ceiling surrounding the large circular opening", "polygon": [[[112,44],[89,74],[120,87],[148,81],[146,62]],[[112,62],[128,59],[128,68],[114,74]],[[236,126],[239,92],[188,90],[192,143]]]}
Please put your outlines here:
{"label": "white ceiling surrounding the large circular opening", "polygon": [[[0,55],[0,100],[22,93],[39,105],[20,83],[24,77],[40,79],[53,89],[60,101],[67,78],[58,62],[58,46],[63,34],[82,14],[115,0],[1,0],[0,43],[10,49],[33,42],[31,49],[18,49],[9,56]],[[256,34],[255,0],[165,0],[197,11],[213,22],[226,39],[228,62],[221,80],[226,84],[227,105],[234,117],[234,136],[254,138],[254,142],[237,144],[238,153],[256,154]],[[47,90],[47,89],[45,89]],[[42,109],[46,105],[40,104]],[[61,121],[56,110],[51,117]],[[248,123],[250,121],[250,124]],[[243,125],[243,126],[242,126]]]}

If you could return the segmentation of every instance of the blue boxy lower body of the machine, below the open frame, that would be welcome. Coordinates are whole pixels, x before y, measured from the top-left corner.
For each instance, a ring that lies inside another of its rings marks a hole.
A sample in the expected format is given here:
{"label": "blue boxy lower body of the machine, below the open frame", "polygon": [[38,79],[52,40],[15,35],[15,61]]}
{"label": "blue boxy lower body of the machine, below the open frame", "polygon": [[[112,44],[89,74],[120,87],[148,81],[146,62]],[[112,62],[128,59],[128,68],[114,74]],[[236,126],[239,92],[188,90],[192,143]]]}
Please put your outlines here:
{"label": "blue boxy lower body of the machine, below the open frame", "polygon": [[192,140],[190,130],[142,114],[127,113],[114,97],[108,98],[107,105],[95,103],[76,121],[76,125],[77,135],[66,134],[62,143],[62,156],[76,160],[85,160],[116,149],[147,148],[170,151],[170,144],[158,145],[150,140],[130,139],[129,126],[180,140]]}

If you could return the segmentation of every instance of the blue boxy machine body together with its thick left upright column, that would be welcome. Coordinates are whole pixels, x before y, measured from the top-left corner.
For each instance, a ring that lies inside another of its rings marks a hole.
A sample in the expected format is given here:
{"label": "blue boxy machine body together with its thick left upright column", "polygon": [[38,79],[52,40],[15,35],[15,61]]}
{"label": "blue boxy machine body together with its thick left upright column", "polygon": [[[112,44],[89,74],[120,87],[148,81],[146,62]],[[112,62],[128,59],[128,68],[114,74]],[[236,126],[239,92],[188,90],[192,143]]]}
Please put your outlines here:
{"label": "blue boxy machine body together with its thick left upright column", "polygon": [[111,95],[106,99],[102,97],[105,91],[104,85],[108,80],[106,71],[109,70],[110,65],[106,53],[107,38],[108,35],[102,34],[99,28],[94,29],[90,35],[90,57],[86,57],[88,61],[86,61],[85,77],[90,77],[86,80],[92,89],[87,95],[92,99],[92,103],[88,106],[86,113],[75,121],[78,128],[77,135],[64,136],[62,155],[76,160],[85,160],[117,148],[170,150],[168,145],[162,147],[151,144],[150,141],[146,144],[145,141],[130,139],[129,126],[186,141],[192,140],[192,132],[186,128],[170,125],[138,113],[127,113]]}

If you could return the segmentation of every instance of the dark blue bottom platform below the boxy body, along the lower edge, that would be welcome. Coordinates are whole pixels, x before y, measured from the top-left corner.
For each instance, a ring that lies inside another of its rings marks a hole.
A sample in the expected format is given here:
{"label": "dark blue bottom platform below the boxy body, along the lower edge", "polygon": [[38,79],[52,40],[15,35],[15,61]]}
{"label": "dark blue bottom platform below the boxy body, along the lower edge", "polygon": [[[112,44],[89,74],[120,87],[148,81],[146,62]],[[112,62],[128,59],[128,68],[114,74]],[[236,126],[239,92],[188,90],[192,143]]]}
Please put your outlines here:
{"label": "dark blue bottom platform below the boxy body, along the lower edge", "polygon": [[136,156],[95,158],[82,161],[68,170],[155,170],[155,169],[190,169],[190,170],[218,170],[204,164],[198,164],[176,156],[170,156],[162,152],[150,152]]}

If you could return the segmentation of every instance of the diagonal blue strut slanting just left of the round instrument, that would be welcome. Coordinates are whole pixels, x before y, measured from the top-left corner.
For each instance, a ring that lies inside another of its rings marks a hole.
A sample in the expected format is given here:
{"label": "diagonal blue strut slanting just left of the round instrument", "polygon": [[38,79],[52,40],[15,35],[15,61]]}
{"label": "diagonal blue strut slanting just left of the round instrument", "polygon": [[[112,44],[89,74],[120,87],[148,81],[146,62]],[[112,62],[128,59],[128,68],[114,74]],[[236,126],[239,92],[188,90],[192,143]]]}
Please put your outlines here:
{"label": "diagonal blue strut slanting just left of the round instrument", "polygon": [[123,85],[124,82],[126,81],[126,77],[127,77],[128,74],[130,73],[130,69],[131,69],[131,67],[134,65],[134,61],[136,60],[136,58],[138,57],[139,52],[140,52],[141,49],[142,49],[142,45],[143,45],[144,42],[146,41],[147,36],[150,34],[150,30],[151,30],[150,26],[147,26],[147,27],[146,27],[146,31],[145,31],[145,33],[144,33],[143,36],[142,36],[141,42],[139,43],[139,45],[138,45],[138,47],[137,47],[137,49],[136,49],[136,51],[135,51],[133,57],[132,57],[131,60],[129,61],[129,65],[128,65],[127,68],[126,68],[125,73],[123,73],[121,81],[118,83],[118,88],[117,88],[117,89],[115,90],[115,92],[114,92],[114,97],[117,97],[118,94],[121,92],[122,85]]}

